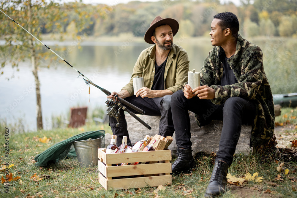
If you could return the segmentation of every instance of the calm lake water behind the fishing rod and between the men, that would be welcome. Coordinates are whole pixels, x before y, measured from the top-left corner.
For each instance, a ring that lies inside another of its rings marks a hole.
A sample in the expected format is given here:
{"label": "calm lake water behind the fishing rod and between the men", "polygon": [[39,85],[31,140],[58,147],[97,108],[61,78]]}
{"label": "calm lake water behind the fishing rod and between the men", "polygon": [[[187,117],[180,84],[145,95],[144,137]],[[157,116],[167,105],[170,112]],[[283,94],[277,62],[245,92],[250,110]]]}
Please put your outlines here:
{"label": "calm lake water behind the fishing rod and between the men", "polygon": [[[44,43],[50,48],[50,44],[54,44]],[[146,43],[130,43],[125,46],[123,42],[82,42],[78,49],[67,42],[62,44],[69,44],[65,47],[70,47],[71,52],[57,53],[60,56],[67,55],[62,57],[95,84],[110,92],[120,91],[129,82],[140,52],[150,46]],[[211,45],[207,50],[205,45],[187,45],[184,48],[189,52],[190,69],[198,70]],[[42,62],[48,64],[45,60]],[[199,64],[194,66],[194,63]],[[19,71],[16,71],[7,65],[3,69],[4,75],[0,76],[0,119],[8,123],[16,123],[21,119],[26,130],[36,130],[36,92],[31,61],[20,62],[18,68]],[[106,95],[90,85],[88,103],[88,86],[83,77],[78,77],[78,72],[64,62],[53,64],[50,68],[40,67],[38,75],[44,129],[51,128],[52,115],[66,114],[70,107],[88,106],[88,110],[100,106],[105,108]]]}

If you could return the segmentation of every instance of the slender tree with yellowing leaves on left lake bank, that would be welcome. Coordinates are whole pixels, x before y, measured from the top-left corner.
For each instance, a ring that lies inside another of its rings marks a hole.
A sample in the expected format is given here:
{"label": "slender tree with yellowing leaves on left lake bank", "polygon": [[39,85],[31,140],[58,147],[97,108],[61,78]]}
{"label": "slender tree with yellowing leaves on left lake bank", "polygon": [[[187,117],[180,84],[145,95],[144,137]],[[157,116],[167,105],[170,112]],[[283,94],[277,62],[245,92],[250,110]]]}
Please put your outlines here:
{"label": "slender tree with yellowing leaves on left lake bank", "polygon": [[[0,3],[0,9],[4,13],[39,39],[45,31],[63,33],[63,27],[71,22],[69,19],[75,22],[75,35],[82,32],[91,23],[89,17],[91,13],[85,11],[84,7],[85,5],[77,2],[59,4],[57,1],[46,0],[7,0]],[[44,50],[45,46],[2,12],[0,12],[0,21],[0,39],[5,41],[4,45],[0,46],[2,55],[0,73],[4,73],[4,67],[9,62],[12,67],[18,67],[21,61],[31,60],[37,99],[37,129],[43,129],[38,68],[42,66],[41,59],[48,59],[49,66],[56,57],[52,56],[49,50]]]}

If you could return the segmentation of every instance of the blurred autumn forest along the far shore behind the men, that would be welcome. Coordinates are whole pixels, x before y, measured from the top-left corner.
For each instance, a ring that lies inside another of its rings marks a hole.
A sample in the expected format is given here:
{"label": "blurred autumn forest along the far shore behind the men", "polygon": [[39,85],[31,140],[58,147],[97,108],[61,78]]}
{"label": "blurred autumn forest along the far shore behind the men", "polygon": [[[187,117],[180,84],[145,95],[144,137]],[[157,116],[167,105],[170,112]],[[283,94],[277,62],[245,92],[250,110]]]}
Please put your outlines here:
{"label": "blurred autumn forest along the far shore behind the men", "polygon": [[[240,23],[239,33],[245,37],[297,37],[297,0],[241,0],[241,6],[221,4],[219,0],[163,0],[158,2],[132,1],[127,4],[89,5],[78,3],[85,11],[89,25],[76,30],[88,36],[118,36],[132,33],[142,37],[156,16],[174,18],[180,24],[180,35],[199,37],[210,32],[213,16],[233,12]],[[253,3],[251,3],[253,2]],[[75,17],[75,14],[73,15]],[[64,32],[75,28],[73,19],[65,19]],[[42,33],[51,33],[43,29]]]}

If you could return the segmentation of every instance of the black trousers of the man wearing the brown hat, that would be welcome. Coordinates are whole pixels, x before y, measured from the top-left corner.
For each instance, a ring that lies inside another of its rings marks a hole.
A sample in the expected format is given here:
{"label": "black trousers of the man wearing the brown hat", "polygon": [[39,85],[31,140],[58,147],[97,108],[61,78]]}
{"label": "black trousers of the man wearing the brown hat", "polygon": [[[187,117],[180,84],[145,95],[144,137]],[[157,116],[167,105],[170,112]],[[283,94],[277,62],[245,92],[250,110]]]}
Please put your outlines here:
{"label": "black trousers of the man wearing the brown hat", "polygon": [[[159,135],[164,137],[172,136],[174,133],[174,126],[172,122],[172,114],[170,108],[171,95],[163,96],[162,98],[141,98],[135,95],[125,98],[127,102],[134,104],[145,111],[145,115],[161,115],[159,122]],[[133,113],[138,113],[130,107],[127,107]],[[116,144],[120,146],[122,144],[123,136],[127,136],[127,145],[132,146],[129,139],[129,133],[127,130],[127,121],[125,118],[124,110],[120,110],[121,120],[119,126],[116,127],[116,118],[109,118],[109,125],[113,134],[117,135]]]}

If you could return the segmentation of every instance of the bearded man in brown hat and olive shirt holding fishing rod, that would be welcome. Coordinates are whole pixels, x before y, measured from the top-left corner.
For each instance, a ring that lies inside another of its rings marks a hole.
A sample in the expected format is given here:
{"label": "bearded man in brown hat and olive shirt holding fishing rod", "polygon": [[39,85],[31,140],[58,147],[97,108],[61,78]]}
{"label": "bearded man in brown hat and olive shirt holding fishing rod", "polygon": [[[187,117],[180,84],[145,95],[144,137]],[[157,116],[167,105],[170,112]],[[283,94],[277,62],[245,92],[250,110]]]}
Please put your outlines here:
{"label": "bearded man in brown hat and olive shirt holding fishing rod", "polygon": [[[159,135],[172,136],[174,126],[171,115],[171,95],[180,90],[187,81],[189,58],[187,52],[173,44],[173,36],[179,28],[178,22],[172,18],[156,17],[144,35],[144,40],[153,45],[140,53],[133,68],[130,82],[120,92],[112,92],[107,98],[118,95],[134,104],[146,115],[161,115]],[[133,89],[133,78],[143,77],[144,87]],[[114,98],[113,98],[114,99]],[[128,107],[129,108],[129,107]],[[133,113],[135,110],[130,109]],[[121,120],[118,127],[115,118],[109,118],[113,134],[117,135],[117,145],[121,145],[123,136],[127,136],[127,145],[132,145],[127,131],[124,111],[120,110]]]}

